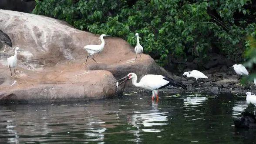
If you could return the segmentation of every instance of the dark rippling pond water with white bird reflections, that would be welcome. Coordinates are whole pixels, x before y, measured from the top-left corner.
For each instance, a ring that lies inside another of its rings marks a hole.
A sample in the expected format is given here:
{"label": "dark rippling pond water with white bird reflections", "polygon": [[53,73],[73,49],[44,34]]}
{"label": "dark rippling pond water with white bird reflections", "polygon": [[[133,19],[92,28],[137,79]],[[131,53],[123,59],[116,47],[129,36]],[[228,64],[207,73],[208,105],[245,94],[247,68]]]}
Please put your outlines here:
{"label": "dark rippling pond water with white bird reflections", "polygon": [[[247,108],[232,95],[151,92],[68,105],[0,106],[1,143],[253,143],[256,131],[233,118]],[[249,111],[254,107],[250,106]]]}

